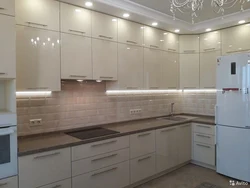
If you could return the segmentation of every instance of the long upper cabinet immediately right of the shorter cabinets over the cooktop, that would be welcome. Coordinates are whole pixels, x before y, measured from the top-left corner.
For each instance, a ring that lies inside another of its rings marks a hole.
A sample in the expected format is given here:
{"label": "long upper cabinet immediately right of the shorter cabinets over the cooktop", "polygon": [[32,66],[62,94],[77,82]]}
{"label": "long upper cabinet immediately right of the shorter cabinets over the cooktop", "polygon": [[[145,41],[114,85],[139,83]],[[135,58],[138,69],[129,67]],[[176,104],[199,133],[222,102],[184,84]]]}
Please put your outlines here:
{"label": "long upper cabinet immediately right of the shorter cabinets over the cooktop", "polygon": [[118,44],[118,81],[106,84],[107,89],[142,89],[143,48],[134,45]]}

